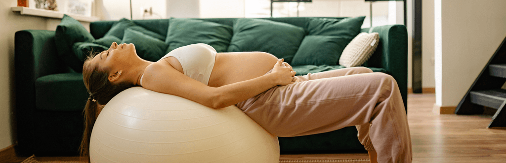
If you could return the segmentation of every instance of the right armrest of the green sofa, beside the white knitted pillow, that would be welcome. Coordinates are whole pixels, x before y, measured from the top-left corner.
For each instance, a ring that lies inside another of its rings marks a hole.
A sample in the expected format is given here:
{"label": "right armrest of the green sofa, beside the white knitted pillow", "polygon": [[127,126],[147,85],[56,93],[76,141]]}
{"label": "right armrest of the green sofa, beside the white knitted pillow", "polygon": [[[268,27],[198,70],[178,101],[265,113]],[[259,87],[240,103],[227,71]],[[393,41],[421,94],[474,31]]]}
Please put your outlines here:
{"label": "right armrest of the green sofa, beside the white knitted pillow", "polygon": [[363,28],[361,32],[379,33],[378,47],[364,66],[384,68],[395,78],[407,111],[408,36],[406,26],[384,25]]}

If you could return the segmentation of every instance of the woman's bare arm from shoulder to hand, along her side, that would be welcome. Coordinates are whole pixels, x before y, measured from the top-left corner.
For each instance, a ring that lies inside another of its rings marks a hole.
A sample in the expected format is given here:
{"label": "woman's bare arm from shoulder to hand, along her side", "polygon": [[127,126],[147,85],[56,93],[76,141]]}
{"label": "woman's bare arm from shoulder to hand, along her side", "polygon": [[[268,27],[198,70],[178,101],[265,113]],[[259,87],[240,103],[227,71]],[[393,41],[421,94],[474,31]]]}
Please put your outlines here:
{"label": "woman's bare arm from shoulder to hand, along her side", "polygon": [[217,88],[193,80],[168,64],[151,64],[144,73],[144,81],[149,82],[145,82],[143,87],[181,96],[208,107],[222,108],[251,98],[276,85],[293,83],[291,76],[295,75],[295,72],[289,67],[281,66],[282,62],[280,59],[269,74]]}

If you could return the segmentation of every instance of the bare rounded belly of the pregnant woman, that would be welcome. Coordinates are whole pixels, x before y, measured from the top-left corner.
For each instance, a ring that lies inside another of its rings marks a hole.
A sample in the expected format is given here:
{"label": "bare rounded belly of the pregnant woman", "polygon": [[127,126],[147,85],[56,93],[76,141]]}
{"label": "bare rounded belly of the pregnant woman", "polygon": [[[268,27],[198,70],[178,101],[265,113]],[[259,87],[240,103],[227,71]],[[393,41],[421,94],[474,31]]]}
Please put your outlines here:
{"label": "bare rounded belly of the pregnant woman", "polygon": [[208,86],[220,87],[260,77],[269,72],[277,60],[266,52],[219,52]]}

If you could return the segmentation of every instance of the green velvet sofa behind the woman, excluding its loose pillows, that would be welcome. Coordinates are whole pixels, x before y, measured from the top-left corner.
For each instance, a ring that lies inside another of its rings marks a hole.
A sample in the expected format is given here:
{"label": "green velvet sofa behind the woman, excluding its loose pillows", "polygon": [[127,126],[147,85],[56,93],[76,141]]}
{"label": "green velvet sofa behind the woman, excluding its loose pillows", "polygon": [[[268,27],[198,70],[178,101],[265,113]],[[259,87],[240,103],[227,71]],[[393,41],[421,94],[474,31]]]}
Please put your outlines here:
{"label": "green velvet sofa behind the woman, excluding its loose pillows", "polygon": [[[262,18],[305,27],[309,18]],[[338,19],[343,18],[329,18]],[[236,18],[200,19],[233,26]],[[148,30],[167,35],[170,19],[134,20]],[[101,38],[116,21],[90,24]],[[379,45],[362,66],[392,75],[407,105],[407,31],[404,25],[364,28],[379,33]],[[344,66],[294,66],[297,75],[341,69]],[[82,74],[65,65],[57,55],[55,31],[22,30],[15,34],[15,86],[17,151],[20,155],[76,155],[83,131],[82,110],[88,93]],[[355,127],[300,136],[279,137],[281,154],[365,152]]]}

